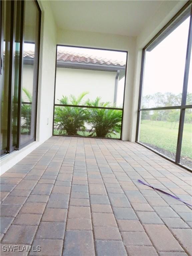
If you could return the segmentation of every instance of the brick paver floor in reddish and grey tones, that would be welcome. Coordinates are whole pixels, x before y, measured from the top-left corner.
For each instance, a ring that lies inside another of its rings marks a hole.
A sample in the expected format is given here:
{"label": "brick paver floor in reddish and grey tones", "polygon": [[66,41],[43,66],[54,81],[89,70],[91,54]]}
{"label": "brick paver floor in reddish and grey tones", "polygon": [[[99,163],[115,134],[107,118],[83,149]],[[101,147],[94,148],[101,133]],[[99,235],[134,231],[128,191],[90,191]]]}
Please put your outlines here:
{"label": "brick paver floor in reddish and grey tones", "polygon": [[[120,140],[54,136],[1,176],[1,255],[192,255],[191,173]],[[4,249],[5,250],[5,249]]]}

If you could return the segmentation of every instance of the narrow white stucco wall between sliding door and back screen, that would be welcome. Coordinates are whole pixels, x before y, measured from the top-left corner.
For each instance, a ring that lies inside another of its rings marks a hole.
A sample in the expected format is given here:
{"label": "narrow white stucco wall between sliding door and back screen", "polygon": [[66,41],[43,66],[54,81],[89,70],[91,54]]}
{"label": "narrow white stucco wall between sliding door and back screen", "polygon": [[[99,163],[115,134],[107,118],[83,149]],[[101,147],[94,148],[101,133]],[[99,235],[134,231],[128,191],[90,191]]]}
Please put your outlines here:
{"label": "narrow white stucco wall between sliding door and back screen", "polygon": [[43,25],[39,62],[37,140],[43,142],[52,136],[57,27],[50,1],[38,2],[42,9]]}

